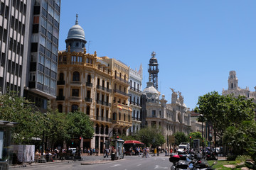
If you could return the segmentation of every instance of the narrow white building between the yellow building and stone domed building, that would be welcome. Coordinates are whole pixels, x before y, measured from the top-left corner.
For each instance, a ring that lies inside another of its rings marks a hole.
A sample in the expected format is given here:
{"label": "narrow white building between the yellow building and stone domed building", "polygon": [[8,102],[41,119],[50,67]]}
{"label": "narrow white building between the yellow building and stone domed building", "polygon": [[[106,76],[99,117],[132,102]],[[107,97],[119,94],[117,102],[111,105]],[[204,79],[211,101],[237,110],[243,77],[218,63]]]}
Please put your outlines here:
{"label": "narrow white building between the yellow building and stone domed building", "polygon": [[142,64],[139,71],[129,69],[129,106],[132,107],[132,127],[129,134],[138,132],[142,124]]}

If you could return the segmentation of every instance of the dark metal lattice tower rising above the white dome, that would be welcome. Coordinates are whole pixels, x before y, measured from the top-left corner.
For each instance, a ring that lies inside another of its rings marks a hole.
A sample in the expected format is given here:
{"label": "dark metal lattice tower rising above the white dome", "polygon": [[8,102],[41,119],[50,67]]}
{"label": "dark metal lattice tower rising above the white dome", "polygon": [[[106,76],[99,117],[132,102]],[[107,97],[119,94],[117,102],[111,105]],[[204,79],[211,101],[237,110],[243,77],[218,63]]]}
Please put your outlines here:
{"label": "dark metal lattice tower rising above the white dome", "polygon": [[149,81],[153,82],[154,88],[158,90],[158,73],[159,73],[159,64],[156,59],[156,52],[151,53],[151,59],[149,60]]}

